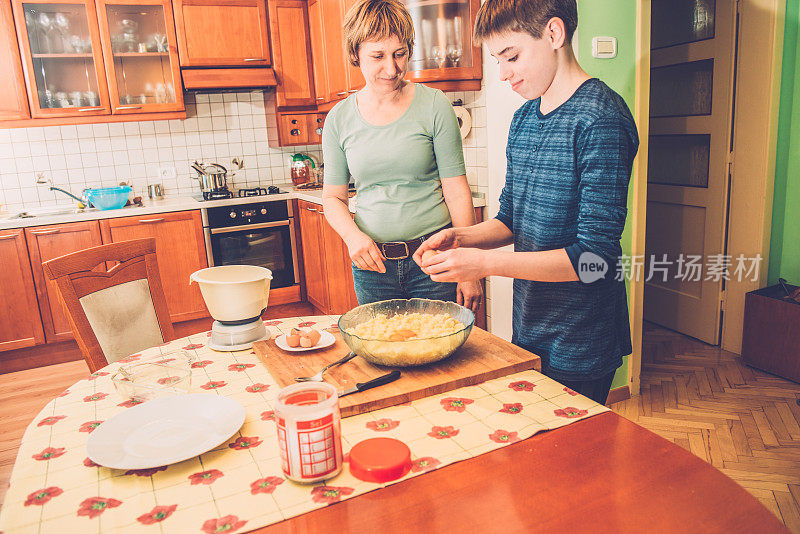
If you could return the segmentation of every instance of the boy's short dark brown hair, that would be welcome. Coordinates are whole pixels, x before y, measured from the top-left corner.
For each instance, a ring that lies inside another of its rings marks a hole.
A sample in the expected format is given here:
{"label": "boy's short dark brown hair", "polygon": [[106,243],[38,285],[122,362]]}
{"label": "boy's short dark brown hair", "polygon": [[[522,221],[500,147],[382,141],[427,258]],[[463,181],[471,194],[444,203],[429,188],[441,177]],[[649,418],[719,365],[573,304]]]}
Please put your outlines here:
{"label": "boy's short dark brown hair", "polygon": [[578,6],[575,0],[486,0],[475,19],[473,39],[483,42],[492,35],[525,32],[541,39],[547,21],[559,18],[564,23],[566,42],[578,27]]}

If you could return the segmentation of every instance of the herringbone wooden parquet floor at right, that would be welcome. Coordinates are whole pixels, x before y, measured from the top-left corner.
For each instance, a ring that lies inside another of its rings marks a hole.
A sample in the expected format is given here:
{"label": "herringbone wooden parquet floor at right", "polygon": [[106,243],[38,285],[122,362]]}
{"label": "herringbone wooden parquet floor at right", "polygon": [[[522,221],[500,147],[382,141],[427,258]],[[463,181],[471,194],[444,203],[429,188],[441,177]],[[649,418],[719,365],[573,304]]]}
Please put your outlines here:
{"label": "herringbone wooden parquet floor at right", "polygon": [[641,395],[610,407],[738,482],[800,533],[800,384],[645,323]]}

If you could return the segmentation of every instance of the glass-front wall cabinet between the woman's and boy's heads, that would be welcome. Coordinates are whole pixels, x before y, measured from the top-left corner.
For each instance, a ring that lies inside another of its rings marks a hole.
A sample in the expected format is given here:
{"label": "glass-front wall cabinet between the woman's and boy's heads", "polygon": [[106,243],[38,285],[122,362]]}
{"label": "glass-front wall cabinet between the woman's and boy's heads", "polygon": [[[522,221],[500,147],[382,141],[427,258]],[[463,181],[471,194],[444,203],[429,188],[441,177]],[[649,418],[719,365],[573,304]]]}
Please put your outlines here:
{"label": "glass-front wall cabinet between the woman's and boy's heads", "polygon": [[479,0],[404,0],[416,42],[408,66],[412,81],[479,80],[481,49],[472,42]]}

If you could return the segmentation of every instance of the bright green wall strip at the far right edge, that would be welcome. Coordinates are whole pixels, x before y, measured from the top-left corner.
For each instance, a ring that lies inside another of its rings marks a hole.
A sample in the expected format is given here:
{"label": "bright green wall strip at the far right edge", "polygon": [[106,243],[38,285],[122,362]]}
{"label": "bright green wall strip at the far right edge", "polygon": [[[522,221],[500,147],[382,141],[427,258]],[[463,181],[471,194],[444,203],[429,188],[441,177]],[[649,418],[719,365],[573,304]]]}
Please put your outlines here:
{"label": "bright green wall strip at the far right edge", "polygon": [[800,3],[786,2],[769,283],[800,284]]}

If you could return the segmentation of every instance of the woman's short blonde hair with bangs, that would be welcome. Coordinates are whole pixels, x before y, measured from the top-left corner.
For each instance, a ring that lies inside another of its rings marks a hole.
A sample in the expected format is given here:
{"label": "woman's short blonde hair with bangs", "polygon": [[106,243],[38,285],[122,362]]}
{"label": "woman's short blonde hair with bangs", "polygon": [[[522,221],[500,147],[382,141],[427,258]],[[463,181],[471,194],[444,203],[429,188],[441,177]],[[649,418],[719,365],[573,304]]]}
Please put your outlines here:
{"label": "woman's short blonde hair with bangs", "polygon": [[399,0],[361,0],[344,16],[344,42],[350,64],[358,67],[358,49],[364,41],[381,41],[396,36],[414,49],[411,15]]}

